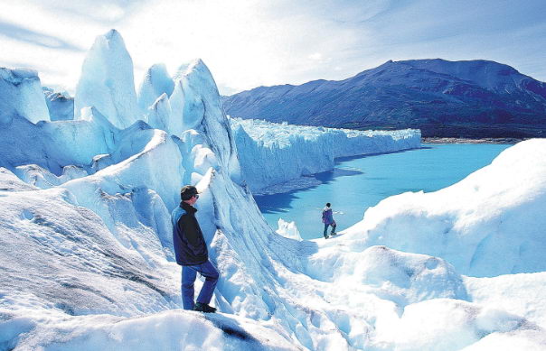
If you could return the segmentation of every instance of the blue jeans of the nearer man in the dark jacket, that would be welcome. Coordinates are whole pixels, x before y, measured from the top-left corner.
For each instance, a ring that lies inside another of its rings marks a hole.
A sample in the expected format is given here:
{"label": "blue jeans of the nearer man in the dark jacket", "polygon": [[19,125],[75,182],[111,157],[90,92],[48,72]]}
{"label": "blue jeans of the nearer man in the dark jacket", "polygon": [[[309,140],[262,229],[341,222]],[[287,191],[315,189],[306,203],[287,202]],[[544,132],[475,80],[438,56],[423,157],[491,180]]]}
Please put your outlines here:
{"label": "blue jeans of the nearer man in the dark jacket", "polygon": [[182,266],[182,305],[184,309],[193,309],[193,298],[195,293],[193,291],[193,282],[197,278],[197,272],[205,277],[205,282],[202,284],[202,289],[197,297],[197,302],[206,303],[211,302],[212,292],[218,282],[218,271],[212,265],[211,261],[197,265],[183,265]]}

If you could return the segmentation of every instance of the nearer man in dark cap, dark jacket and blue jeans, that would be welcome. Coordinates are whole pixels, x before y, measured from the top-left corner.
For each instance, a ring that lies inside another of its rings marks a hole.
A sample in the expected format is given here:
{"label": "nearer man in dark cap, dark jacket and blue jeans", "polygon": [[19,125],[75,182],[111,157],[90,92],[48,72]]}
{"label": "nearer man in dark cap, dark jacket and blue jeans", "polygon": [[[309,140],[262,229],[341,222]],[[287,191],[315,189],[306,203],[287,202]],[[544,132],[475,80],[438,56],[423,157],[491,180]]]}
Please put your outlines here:
{"label": "nearer man in dark cap, dark jacket and blue jeans", "polygon": [[[201,227],[195,218],[196,208],[193,208],[199,193],[192,185],[186,185],[180,190],[182,202],[174,208],[171,217],[173,222],[173,245],[176,263],[182,265],[182,304],[184,309],[193,309],[205,313],[214,313],[216,309],[209,306],[212,292],[218,282],[218,271],[209,261],[209,251],[202,236]],[[193,303],[193,282],[197,272],[205,277],[197,302]]]}

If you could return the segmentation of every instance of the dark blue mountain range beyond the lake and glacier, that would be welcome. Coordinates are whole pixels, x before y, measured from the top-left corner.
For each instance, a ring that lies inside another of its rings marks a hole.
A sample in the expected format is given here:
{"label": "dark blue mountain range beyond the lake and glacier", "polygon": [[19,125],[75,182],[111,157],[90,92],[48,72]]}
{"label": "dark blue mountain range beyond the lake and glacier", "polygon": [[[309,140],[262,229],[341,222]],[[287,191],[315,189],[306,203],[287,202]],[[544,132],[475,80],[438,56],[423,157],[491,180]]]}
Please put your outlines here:
{"label": "dark blue mountain range beyond the lake and glacier", "polygon": [[490,60],[389,60],[349,79],[253,88],[223,106],[233,117],[425,137],[546,135],[546,83]]}

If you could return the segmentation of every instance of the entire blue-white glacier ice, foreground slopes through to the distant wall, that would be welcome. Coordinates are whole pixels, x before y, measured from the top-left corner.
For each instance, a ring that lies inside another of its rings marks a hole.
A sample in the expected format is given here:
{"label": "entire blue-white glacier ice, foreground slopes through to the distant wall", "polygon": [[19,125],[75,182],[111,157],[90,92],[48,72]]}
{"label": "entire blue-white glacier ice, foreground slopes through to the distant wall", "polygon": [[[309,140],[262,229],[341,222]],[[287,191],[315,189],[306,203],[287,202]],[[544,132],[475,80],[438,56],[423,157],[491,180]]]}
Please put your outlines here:
{"label": "entire blue-white glacier ice, foreground slopes through to the distant wall", "polygon": [[[137,96],[128,66],[112,73],[130,60],[120,34],[96,43],[74,119],[50,117],[36,72],[3,70],[0,350],[546,347],[546,140],[518,143],[447,189],[385,199],[331,240],[300,240],[261,216],[245,153],[305,162],[332,136],[344,146],[318,165],[328,167],[362,145],[413,147],[419,132],[342,143],[351,132],[244,128],[201,60],[172,85],[156,66]],[[198,219],[221,273],[216,315],[180,309],[170,211],[185,183],[202,192]]]}

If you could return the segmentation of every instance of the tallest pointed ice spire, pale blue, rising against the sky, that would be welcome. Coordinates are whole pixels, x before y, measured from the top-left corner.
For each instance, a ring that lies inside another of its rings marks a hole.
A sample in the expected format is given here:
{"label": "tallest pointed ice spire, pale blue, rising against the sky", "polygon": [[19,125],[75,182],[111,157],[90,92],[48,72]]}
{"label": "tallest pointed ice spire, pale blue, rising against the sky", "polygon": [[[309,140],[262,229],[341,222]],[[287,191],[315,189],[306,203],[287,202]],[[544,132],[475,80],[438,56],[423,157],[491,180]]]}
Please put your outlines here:
{"label": "tallest pointed ice spire, pale blue, rising against the sky", "polygon": [[127,128],[141,117],[133,60],[114,29],[97,37],[83,62],[74,97],[75,119],[80,119],[80,109],[85,106],[94,106],[119,128]]}

